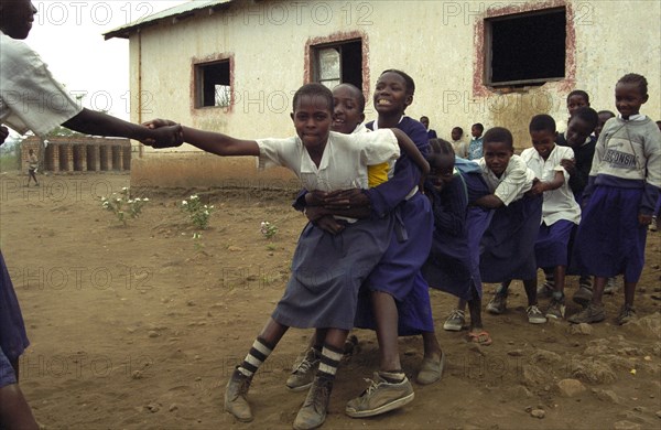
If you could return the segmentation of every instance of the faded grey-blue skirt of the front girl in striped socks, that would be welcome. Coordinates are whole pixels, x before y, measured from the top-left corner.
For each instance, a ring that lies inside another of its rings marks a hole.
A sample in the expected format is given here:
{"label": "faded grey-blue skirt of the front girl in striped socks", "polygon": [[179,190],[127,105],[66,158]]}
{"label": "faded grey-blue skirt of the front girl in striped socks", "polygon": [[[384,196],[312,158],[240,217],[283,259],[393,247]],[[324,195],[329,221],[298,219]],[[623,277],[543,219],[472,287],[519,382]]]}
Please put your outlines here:
{"label": "faded grey-blue skirt of the front girl in striped socks", "polygon": [[300,329],[351,330],[358,291],[390,245],[393,218],[361,219],[332,235],[308,223],[272,318]]}

